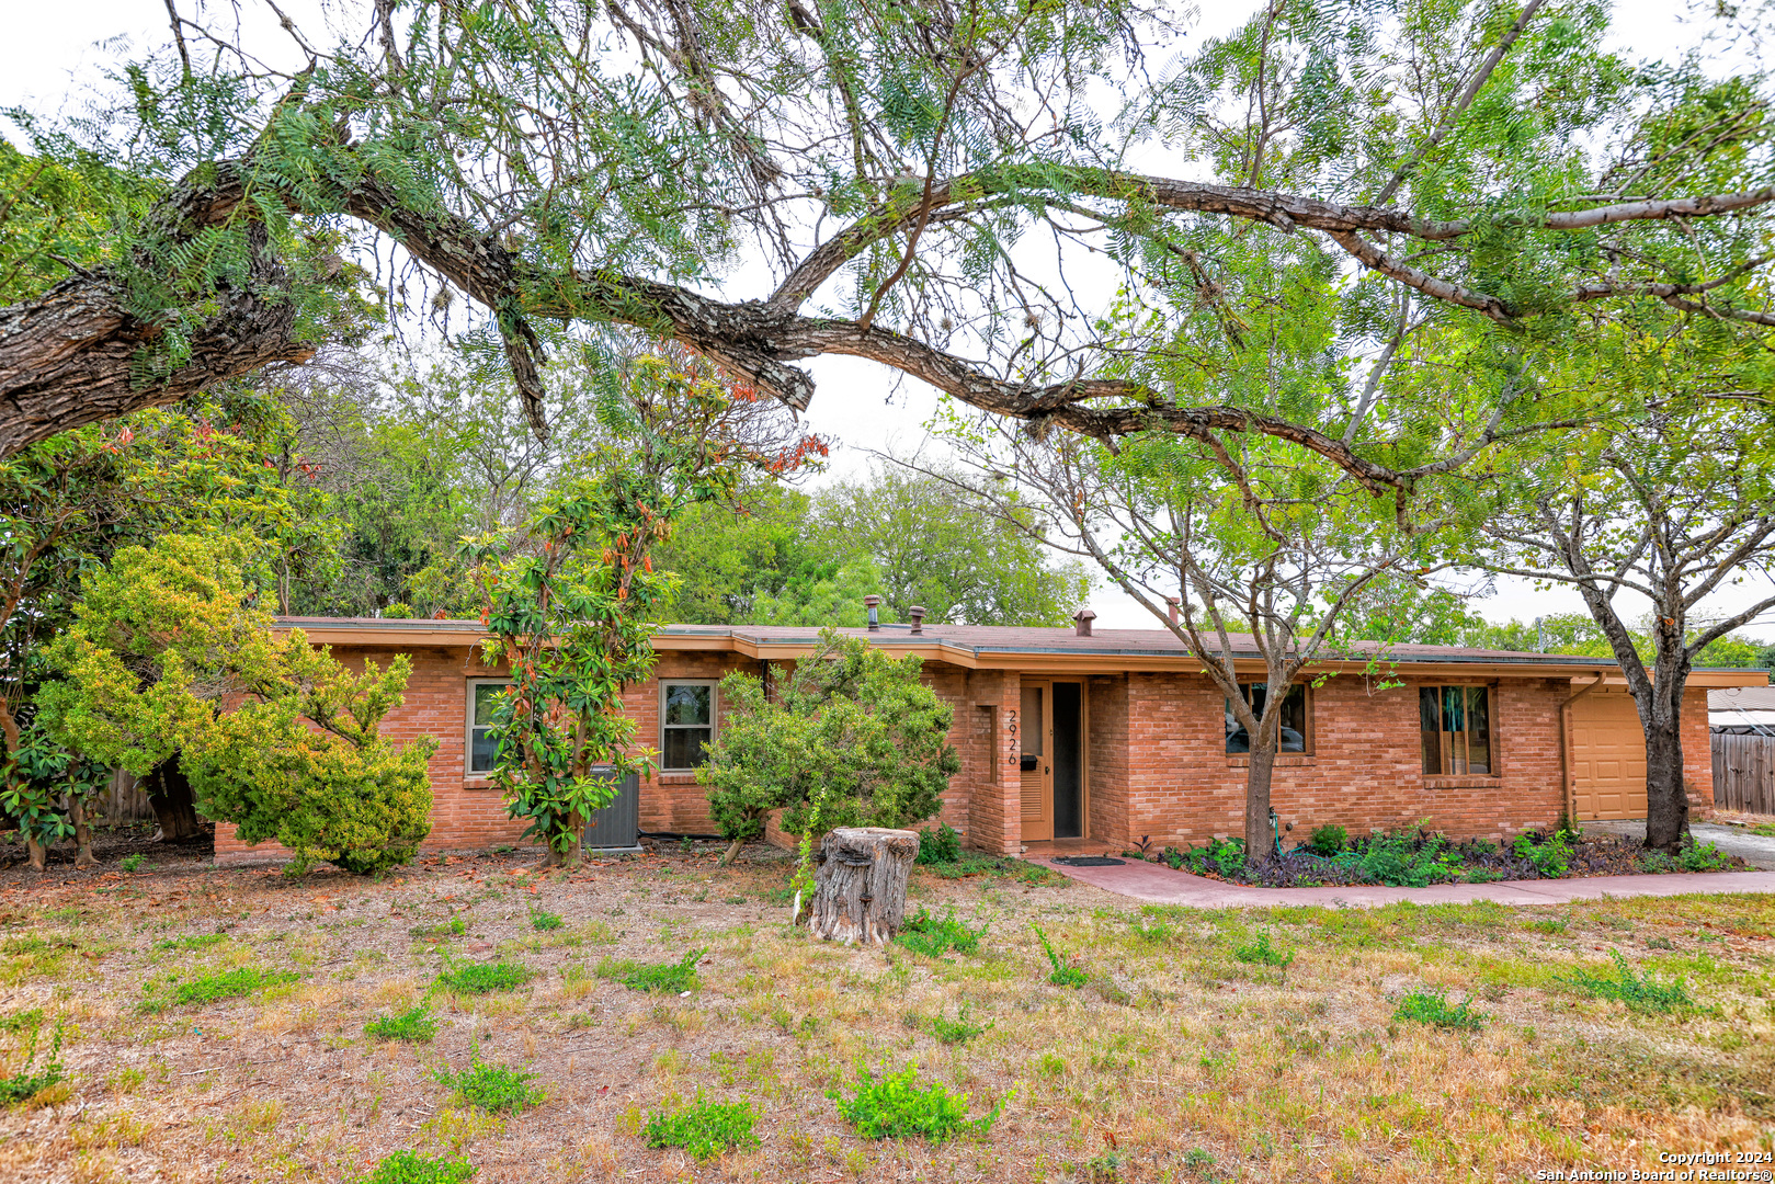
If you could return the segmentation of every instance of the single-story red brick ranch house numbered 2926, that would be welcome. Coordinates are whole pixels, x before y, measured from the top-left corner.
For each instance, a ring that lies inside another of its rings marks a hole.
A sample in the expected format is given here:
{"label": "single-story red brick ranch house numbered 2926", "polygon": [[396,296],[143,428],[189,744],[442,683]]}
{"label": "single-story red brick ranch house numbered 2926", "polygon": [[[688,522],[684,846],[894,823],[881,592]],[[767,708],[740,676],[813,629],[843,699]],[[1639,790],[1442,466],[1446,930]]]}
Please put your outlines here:
{"label": "single-story red brick ranch house numbered 2926", "polygon": [[[405,706],[385,730],[431,735],[431,836],[426,849],[517,843],[486,779],[485,724],[501,671],[481,662],[479,621],[284,618],[316,644],[362,669],[408,653]],[[1242,831],[1250,758],[1227,703],[1164,630],[964,625],[882,625],[843,630],[893,655],[923,659],[925,680],[955,706],[951,742],[962,772],[944,793],[943,820],[969,847],[1015,854],[1203,843]],[[818,643],[815,628],[671,625],[655,637],[655,676],[628,689],[641,744],[659,770],[630,786],[627,834],[588,834],[589,845],[653,834],[712,834],[696,785],[701,744],[721,730],[717,682],[737,669],[781,673]],[[1237,643],[1235,643],[1237,644]],[[1303,841],[1324,824],[1353,834],[1425,824],[1454,838],[1502,840],[1578,818],[1645,815],[1644,735],[1615,662],[1448,646],[1388,653],[1404,685],[1379,689],[1365,662],[1324,662],[1321,687],[1296,689],[1285,706],[1283,753],[1273,802]],[[1262,694],[1262,664],[1235,653]],[[1752,685],[1761,671],[1697,671],[1684,703],[1683,751],[1690,802],[1713,801],[1708,696]],[[481,705],[477,714],[476,705]],[[772,834],[781,840],[779,834]],[[218,863],[275,859],[217,825]]]}

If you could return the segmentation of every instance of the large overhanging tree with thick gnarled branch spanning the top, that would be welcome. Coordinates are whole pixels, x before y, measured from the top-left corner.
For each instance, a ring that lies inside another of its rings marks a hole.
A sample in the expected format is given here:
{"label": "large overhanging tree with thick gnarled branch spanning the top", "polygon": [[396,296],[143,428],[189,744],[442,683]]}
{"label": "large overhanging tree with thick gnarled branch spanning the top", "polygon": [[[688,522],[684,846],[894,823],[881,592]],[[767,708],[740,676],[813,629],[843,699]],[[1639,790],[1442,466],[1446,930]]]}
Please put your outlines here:
{"label": "large overhanging tree with thick gnarled branch spanning the top", "polygon": [[[1347,408],[1202,398],[1127,360],[1202,309],[1241,335],[1223,295],[1251,241],[1498,353],[1645,307],[1775,325],[1766,82],[1631,67],[1583,0],[1276,0],[1164,71],[1141,57],[1179,30],[1129,0],[362,0],[328,9],[337,43],[282,20],[277,44],[169,11],[114,117],[27,126],[34,154],[138,185],[0,311],[0,453],[309,357],[360,325],[355,293],[456,328],[462,295],[538,426],[559,325],[621,323],[797,408],[797,360],[852,355],[987,412],[1267,437],[1409,493],[1440,458],[1345,438]],[[1129,165],[1157,158],[1189,176]],[[373,289],[348,257],[378,261]],[[1147,311],[1132,339],[1086,296],[1106,264]],[[1546,419],[1496,383],[1466,398],[1491,433]],[[1399,421],[1384,389],[1369,414]]]}

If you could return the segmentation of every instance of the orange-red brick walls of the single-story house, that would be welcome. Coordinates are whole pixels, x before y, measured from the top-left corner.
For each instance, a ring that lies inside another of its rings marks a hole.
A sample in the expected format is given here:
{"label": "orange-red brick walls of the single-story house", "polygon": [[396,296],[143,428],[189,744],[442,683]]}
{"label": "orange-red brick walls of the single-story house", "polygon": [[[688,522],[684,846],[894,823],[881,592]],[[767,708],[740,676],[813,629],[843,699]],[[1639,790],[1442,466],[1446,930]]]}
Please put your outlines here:
{"label": "orange-red brick walls of the single-story house", "polygon": [[[366,653],[385,662],[390,650],[335,648],[353,669]],[[389,714],[398,740],[431,735],[433,827],[426,849],[518,843],[522,824],[508,820],[499,792],[465,770],[467,682],[488,671],[465,646],[415,650],[406,703]],[[655,680],[632,687],[625,705],[637,744],[659,747],[659,678],[721,678],[760,664],[737,655],[664,651]],[[786,676],[788,664],[774,667]],[[1022,841],[1017,733],[1021,675],[927,664],[927,682],[955,708],[950,742],[962,770],[943,799],[943,818],[969,847],[1012,854]],[[1109,847],[1152,836],[1156,845],[1202,843],[1244,829],[1244,758],[1225,753],[1223,705],[1203,676],[1093,675],[1088,701],[1088,833]],[[1416,687],[1372,691],[1360,676],[1337,676],[1312,692],[1314,751],[1278,758],[1273,802],[1285,841],[1303,841],[1315,825],[1370,827],[1425,824],[1457,838],[1503,838],[1558,818],[1558,705],[1566,680],[1514,678],[1495,687],[1493,777],[1425,777],[1418,758]],[[1706,696],[1686,696],[1683,747],[1697,806],[1711,804]],[[694,774],[660,774],[641,786],[641,829],[714,833],[708,802]],[[781,840],[781,834],[774,834]],[[280,849],[250,849],[234,827],[217,825],[217,861],[277,859]]]}

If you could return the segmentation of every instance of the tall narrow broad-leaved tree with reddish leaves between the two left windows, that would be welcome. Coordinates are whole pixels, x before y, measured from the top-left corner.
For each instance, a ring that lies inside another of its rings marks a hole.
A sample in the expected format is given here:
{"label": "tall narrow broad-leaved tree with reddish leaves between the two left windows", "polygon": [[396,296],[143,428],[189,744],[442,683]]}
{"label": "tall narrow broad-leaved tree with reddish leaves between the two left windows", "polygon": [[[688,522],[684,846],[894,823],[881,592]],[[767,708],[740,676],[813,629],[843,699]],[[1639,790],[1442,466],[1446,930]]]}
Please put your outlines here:
{"label": "tall narrow broad-leaved tree with reddish leaves between the two left windows", "polygon": [[492,639],[511,685],[492,719],[493,783],[550,863],[577,864],[591,815],[650,753],[623,691],[653,669],[653,621],[673,577],[653,549],[698,502],[733,497],[747,472],[783,476],[825,446],[746,385],[685,353],[643,357],[598,405],[609,442],[577,462],[520,531],[467,540]]}

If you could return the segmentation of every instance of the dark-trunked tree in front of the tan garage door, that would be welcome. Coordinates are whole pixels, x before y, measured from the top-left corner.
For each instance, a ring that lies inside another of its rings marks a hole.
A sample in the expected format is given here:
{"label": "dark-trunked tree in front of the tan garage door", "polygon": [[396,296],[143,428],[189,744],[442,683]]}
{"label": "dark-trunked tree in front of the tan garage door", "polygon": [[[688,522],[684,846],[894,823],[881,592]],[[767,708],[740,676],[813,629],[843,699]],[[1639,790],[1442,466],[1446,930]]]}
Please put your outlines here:
{"label": "dark-trunked tree in front of the tan garage door", "polygon": [[[1503,462],[1505,458],[1500,458]],[[1512,453],[1493,474],[1493,572],[1574,588],[1621,662],[1645,730],[1645,845],[1688,834],[1683,698],[1695,655],[1775,609],[1775,437],[1736,398],[1649,396],[1566,447]],[[1750,584],[1725,614],[1709,596]],[[1622,620],[1651,602],[1651,660]]]}

